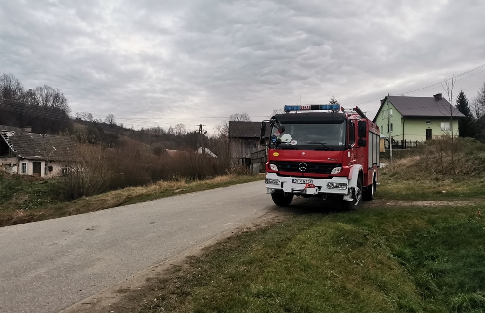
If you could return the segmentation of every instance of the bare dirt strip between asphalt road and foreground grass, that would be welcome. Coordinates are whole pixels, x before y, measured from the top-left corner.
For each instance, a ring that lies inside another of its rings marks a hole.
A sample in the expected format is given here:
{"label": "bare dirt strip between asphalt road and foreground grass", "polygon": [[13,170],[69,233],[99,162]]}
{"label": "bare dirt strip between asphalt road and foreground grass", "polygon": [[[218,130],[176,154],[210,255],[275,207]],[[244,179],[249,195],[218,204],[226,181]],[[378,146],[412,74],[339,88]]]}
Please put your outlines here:
{"label": "bare dirt strip between asphalt road and foreground grass", "polygon": [[[155,299],[159,294],[160,279],[170,278],[189,267],[191,259],[207,253],[210,248],[238,233],[264,229],[278,224],[291,216],[291,211],[274,210],[250,223],[220,234],[178,256],[141,271],[112,287],[101,290],[60,313],[131,313],[137,312],[143,302]],[[143,301],[145,299],[145,301]]]}

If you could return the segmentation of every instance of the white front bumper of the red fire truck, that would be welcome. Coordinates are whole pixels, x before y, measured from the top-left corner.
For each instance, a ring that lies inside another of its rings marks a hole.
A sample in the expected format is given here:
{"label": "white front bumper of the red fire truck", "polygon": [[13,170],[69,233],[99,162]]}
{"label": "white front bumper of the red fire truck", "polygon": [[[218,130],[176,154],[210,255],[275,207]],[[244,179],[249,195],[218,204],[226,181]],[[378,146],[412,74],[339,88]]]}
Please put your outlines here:
{"label": "white front bumper of the red fire truck", "polygon": [[[293,179],[295,179],[295,177],[278,176],[276,173],[266,174],[266,179],[279,179],[278,184],[266,183],[266,193],[283,191],[287,193],[309,194],[309,195],[336,194],[336,195],[346,196],[349,194],[349,186],[348,186],[349,181],[346,177],[332,177],[331,179],[317,179],[317,178],[309,178],[309,177],[297,178],[297,179],[311,179],[312,184],[315,185],[315,188],[305,188],[305,184],[293,183]],[[344,189],[329,189],[328,188],[329,183],[345,184],[346,187]]]}

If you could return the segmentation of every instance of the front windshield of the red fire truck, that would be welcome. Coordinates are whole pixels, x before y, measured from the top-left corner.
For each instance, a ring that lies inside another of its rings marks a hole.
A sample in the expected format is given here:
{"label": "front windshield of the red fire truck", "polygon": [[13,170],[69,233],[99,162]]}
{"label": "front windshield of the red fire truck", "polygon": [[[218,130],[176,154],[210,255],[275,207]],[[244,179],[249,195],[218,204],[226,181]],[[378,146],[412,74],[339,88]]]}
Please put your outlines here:
{"label": "front windshield of the red fire truck", "polygon": [[[315,143],[323,143],[325,146],[331,147],[335,150],[344,150],[345,147],[345,126],[343,121],[336,121],[337,123],[318,123],[318,124],[298,124],[298,123],[284,123],[285,131],[279,133],[276,127],[271,130],[271,136],[276,140],[282,141],[279,145],[292,145],[298,149],[322,149],[323,145]],[[273,137],[275,136],[275,137]],[[273,142],[272,140],[271,142]],[[304,147],[303,147],[304,146]]]}

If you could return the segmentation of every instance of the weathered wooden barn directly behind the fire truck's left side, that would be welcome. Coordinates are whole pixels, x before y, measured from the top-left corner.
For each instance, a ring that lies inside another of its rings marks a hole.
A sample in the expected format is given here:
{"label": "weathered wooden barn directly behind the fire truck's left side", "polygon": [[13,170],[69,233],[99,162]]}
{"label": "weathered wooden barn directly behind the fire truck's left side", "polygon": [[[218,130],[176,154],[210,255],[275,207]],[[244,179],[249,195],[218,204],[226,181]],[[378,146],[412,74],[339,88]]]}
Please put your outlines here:
{"label": "weathered wooden barn directly behind the fire truck's left side", "polygon": [[[238,122],[229,121],[229,156],[231,166],[251,166],[251,153],[265,150],[266,147],[259,143],[261,122]],[[269,123],[266,125],[266,142],[271,130]]]}

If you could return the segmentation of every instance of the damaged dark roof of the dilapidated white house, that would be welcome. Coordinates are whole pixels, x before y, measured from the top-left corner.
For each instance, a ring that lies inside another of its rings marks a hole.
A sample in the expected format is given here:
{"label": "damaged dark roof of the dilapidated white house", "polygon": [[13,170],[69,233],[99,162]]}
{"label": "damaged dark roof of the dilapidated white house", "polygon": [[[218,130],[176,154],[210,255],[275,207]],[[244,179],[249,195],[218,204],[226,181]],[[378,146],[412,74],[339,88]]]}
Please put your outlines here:
{"label": "damaged dark roof of the dilapidated white house", "polygon": [[66,161],[72,159],[75,143],[65,136],[36,134],[0,125],[0,140],[22,159]]}

